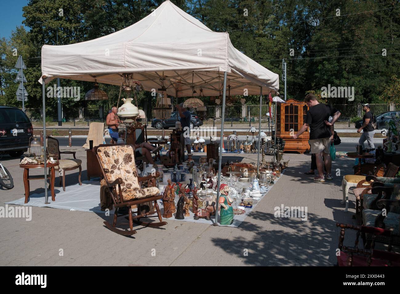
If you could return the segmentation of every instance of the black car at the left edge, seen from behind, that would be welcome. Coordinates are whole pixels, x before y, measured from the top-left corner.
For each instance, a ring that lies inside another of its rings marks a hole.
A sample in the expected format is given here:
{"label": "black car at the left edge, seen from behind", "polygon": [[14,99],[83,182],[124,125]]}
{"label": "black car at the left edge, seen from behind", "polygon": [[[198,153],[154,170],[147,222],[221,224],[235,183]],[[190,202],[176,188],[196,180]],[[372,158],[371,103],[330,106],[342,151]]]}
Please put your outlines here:
{"label": "black car at the left edge, seen from behind", "polygon": [[22,110],[0,106],[0,152],[21,156],[28,150],[32,134],[32,123]]}

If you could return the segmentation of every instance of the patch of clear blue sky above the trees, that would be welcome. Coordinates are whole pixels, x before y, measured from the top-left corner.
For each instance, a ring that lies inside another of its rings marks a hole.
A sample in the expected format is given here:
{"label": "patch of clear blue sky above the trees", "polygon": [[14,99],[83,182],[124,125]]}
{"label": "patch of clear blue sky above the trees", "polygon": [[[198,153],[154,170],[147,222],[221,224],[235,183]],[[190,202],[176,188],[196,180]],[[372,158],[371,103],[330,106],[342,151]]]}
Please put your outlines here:
{"label": "patch of clear blue sky above the trees", "polygon": [[[11,31],[22,25],[22,7],[28,0],[2,0],[0,9],[0,38],[10,38]],[[27,28],[28,29],[28,28]]]}

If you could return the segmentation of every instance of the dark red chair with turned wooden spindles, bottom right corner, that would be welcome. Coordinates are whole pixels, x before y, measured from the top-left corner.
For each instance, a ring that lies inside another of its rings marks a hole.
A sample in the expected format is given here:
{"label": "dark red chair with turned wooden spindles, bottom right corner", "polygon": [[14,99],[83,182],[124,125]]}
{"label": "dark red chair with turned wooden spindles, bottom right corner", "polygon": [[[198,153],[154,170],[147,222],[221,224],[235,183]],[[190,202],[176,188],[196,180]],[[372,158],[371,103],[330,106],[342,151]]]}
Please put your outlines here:
{"label": "dark red chair with turned wooden spindles, bottom right corner", "polygon": [[[349,224],[339,224],[340,236],[338,248],[340,254],[336,255],[338,266],[400,266],[400,254],[392,252],[392,243],[389,244],[387,251],[376,250],[375,241],[378,237],[391,238],[393,232],[382,228],[368,226],[353,226]],[[345,229],[356,230],[356,240],[354,247],[343,246]],[[358,248],[358,240],[361,234],[371,234],[373,242],[370,249]]]}

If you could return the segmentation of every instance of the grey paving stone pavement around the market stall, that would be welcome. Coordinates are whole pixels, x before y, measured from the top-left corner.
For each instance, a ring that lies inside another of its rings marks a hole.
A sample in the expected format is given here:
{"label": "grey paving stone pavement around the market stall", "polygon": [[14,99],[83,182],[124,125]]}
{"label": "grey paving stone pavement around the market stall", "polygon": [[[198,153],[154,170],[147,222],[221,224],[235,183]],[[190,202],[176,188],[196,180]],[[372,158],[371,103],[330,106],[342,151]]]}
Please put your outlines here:
{"label": "grey paving stone pavement around the market stall", "polygon": [[[77,147],[68,150],[77,151],[77,158],[82,159],[85,180],[85,151]],[[228,158],[254,162],[257,155],[224,154],[223,162]],[[105,228],[103,221],[111,217],[103,214],[32,207],[31,221],[0,218],[0,265],[332,266],[336,264],[339,236],[336,222],[356,224],[351,218],[355,202],[349,202],[347,214],[340,204],[341,178],[352,173],[354,160],[338,158],[332,171],[341,176],[320,183],[302,174],[310,168],[310,154],[285,154],[284,160],[289,159],[288,170],[238,228],[170,219],[162,228],[138,226],[137,234],[128,238]],[[18,166],[19,159],[4,156],[2,162],[15,185],[12,190],[0,188],[0,206],[5,206],[3,202],[24,196],[23,170]],[[31,170],[30,174],[41,172]],[[77,181],[78,173],[68,172],[66,189]],[[43,191],[43,181],[31,181],[30,189],[31,193]],[[60,189],[58,178],[56,189]],[[84,191],[81,196],[85,197]],[[350,196],[350,200],[354,199]],[[307,220],[275,218],[274,208],[282,204],[307,207]],[[352,236],[353,232],[346,231],[347,241],[354,242]]]}

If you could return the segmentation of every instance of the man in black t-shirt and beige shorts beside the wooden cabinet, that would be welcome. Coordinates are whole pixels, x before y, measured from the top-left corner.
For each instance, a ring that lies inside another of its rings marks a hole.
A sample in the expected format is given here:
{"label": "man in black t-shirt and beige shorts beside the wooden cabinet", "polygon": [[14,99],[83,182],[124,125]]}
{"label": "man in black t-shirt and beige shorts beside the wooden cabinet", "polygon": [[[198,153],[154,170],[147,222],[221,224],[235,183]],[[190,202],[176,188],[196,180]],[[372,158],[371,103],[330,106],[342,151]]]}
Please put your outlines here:
{"label": "man in black t-shirt and beige shorts beside the wooden cabinet", "polygon": [[[319,103],[313,94],[308,94],[304,101],[310,109],[303,126],[292,138],[297,139],[310,126],[311,153],[316,156],[318,169],[318,176],[314,178],[314,181],[325,182],[324,164],[327,173],[326,179],[332,180],[332,159],[330,158],[329,148],[333,142],[333,135],[330,126],[338,120],[340,112],[327,104]],[[329,116],[332,116],[331,122],[328,122]]]}

